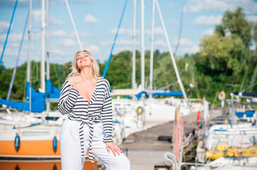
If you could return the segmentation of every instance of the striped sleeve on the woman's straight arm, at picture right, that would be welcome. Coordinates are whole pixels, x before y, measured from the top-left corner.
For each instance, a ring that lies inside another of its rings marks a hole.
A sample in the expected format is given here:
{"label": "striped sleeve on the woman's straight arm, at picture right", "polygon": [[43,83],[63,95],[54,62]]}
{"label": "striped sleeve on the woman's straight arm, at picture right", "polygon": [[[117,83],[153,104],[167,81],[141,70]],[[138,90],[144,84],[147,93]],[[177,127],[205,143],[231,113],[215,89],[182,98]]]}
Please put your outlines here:
{"label": "striped sleeve on the woman's straight arm, at picture right", "polygon": [[105,80],[105,100],[102,108],[103,142],[113,142],[113,111],[110,85]]}

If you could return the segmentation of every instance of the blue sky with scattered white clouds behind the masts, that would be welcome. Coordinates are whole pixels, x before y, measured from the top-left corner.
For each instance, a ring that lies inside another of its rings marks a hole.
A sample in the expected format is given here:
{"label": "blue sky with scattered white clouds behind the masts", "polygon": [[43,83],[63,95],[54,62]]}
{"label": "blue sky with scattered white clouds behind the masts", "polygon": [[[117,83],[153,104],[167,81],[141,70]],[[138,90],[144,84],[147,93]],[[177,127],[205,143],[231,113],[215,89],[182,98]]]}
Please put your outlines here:
{"label": "blue sky with scattered white clouds behind the masts", "polygon": [[[16,0],[0,0],[0,52],[4,47],[6,33]],[[68,0],[76,30],[85,50],[100,62],[108,60],[126,0]],[[257,0],[159,0],[161,15],[175,52],[181,30],[177,54],[193,54],[200,51],[200,40],[212,35],[215,25],[221,23],[224,11],[244,8],[246,19],[257,21]],[[16,64],[18,51],[28,15],[29,0],[19,0],[13,18],[10,35],[1,64],[11,68]],[[136,49],[141,51],[141,1],[137,0]],[[32,60],[41,57],[41,1],[33,0]],[[159,12],[155,9],[154,50],[168,52]],[[50,62],[64,64],[73,60],[80,50],[72,21],[64,0],[50,0]],[[127,0],[113,54],[122,50],[132,51],[133,0]],[[151,48],[152,1],[144,1],[144,49]],[[28,58],[28,24],[21,48],[18,65]]]}

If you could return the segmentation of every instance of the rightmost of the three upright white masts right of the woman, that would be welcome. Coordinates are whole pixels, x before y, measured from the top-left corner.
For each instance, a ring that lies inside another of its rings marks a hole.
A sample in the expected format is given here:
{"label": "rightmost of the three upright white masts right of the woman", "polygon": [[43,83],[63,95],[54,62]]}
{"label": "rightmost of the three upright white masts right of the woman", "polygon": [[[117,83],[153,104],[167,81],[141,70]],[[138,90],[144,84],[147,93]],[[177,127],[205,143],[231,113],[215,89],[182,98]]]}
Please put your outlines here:
{"label": "rightmost of the three upright white masts right of the woman", "polygon": [[[152,8],[152,35],[151,35],[151,55],[150,55],[150,77],[149,89],[153,89],[153,69],[154,69],[154,16],[155,16],[155,0],[153,0]],[[152,97],[152,94],[151,94]]]}

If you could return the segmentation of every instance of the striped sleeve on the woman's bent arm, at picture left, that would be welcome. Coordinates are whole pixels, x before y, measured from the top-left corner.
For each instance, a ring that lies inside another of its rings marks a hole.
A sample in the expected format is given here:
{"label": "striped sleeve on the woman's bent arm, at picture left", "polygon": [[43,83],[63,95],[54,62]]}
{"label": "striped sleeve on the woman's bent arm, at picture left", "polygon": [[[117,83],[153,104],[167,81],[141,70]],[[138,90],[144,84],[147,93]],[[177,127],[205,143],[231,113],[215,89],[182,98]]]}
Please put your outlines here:
{"label": "striped sleeve on the woman's bent arm, at picture left", "polygon": [[79,95],[79,91],[74,88],[69,89],[69,86],[71,85],[69,84],[69,81],[66,80],[62,85],[61,94],[59,96],[58,109],[63,115],[72,111]]}

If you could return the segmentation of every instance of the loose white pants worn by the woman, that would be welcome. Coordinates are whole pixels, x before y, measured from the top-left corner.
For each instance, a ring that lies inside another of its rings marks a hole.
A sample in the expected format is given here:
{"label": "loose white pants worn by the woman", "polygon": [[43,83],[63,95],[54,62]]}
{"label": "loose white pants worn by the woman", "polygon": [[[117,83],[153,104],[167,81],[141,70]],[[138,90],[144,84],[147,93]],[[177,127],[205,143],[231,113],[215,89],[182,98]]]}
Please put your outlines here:
{"label": "loose white pants worn by the woman", "polygon": [[[81,157],[81,145],[79,140],[80,121],[67,118],[62,124],[60,133],[61,162],[62,170],[81,170],[83,169],[85,159]],[[84,148],[88,150],[89,127],[84,125]],[[107,152],[103,142],[102,123],[93,124],[92,153],[103,162],[108,170],[130,170],[130,160],[125,154],[116,153],[116,157],[110,149]]]}

